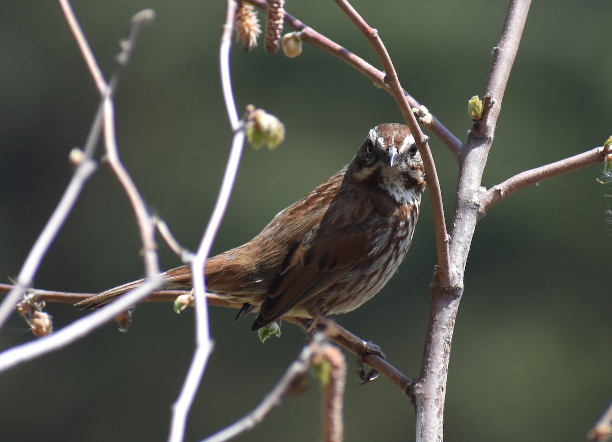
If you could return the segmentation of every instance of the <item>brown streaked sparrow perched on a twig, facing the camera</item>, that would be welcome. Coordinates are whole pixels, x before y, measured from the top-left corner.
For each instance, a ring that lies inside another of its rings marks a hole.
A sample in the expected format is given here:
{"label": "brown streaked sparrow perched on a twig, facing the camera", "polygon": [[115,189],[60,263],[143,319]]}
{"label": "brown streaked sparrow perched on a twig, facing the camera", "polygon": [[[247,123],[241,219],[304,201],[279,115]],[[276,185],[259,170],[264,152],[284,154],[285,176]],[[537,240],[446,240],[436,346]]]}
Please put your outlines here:
{"label": "brown streaked sparrow perched on a twig, facing the camera", "polygon": [[[283,316],[346,313],[378,293],[404,259],[419,216],[425,173],[407,126],[380,124],[353,160],[279,212],[255,238],[206,261],[207,290],[258,311],[256,330]],[[181,266],[169,286],[191,285]],[[112,301],[135,281],[79,302]]]}

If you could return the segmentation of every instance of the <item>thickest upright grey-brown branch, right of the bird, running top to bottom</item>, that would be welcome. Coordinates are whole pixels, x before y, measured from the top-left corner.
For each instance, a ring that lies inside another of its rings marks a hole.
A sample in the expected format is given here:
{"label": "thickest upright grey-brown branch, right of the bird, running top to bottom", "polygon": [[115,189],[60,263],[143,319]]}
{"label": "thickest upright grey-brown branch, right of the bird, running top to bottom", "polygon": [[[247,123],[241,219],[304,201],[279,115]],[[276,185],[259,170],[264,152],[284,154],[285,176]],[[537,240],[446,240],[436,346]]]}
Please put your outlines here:
{"label": "thickest upright grey-brown branch, right of the bird, running top to bottom", "polygon": [[419,379],[414,383],[417,441],[443,438],[444,401],[450,348],[455,320],[463,295],[463,274],[479,220],[475,203],[493,141],[495,125],[512,64],[527,18],[530,0],[511,0],[494,61],[485,86],[485,108],[461,148],[457,200],[450,233],[449,252],[453,273],[446,285],[432,285],[431,309]]}

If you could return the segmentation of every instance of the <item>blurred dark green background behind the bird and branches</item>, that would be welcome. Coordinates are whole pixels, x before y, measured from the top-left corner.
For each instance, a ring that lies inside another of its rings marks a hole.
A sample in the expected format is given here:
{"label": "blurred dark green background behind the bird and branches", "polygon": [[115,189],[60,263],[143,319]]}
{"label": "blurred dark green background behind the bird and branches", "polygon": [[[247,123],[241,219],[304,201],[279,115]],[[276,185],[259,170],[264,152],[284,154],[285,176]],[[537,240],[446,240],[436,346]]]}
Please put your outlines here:
{"label": "blurred dark green background behind the bird and branches", "polygon": [[[482,95],[507,2],[356,0],[394,59],[403,86],[457,137],[471,125],[467,100]],[[109,72],[131,15],[151,7],[116,96],[122,159],[149,207],[195,249],[211,213],[231,133],[218,75],[225,2],[74,1],[100,66]],[[330,1],[287,10],[378,66],[373,50]],[[98,96],[56,2],[0,1],[0,272],[16,275],[56,205]],[[612,115],[612,3],[534,2],[502,105],[483,184],[599,146]],[[260,18],[263,18],[260,15]],[[245,148],[233,198],[214,245],[252,238],[280,209],[347,163],[367,130],[401,121],[394,101],[346,64],[305,45],[288,59],[234,45],[239,108],[277,114],[276,151]],[[431,139],[447,215],[455,160]],[[525,189],[481,220],[466,269],[447,386],[448,440],[576,441],[612,400],[612,206],[589,167]],[[426,193],[427,196],[427,193]],[[382,346],[410,377],[419,373],[435,265],[431,210],[422,215],[398,274],[340,324]],[[105,165],[88,182],[40,266],[35,286],[97,292],[141,277],[138,233]],[[163,268],[179,264],[161,247]],[[56,328],[81,312],[48,305]],[[108,324],[75,344],[0,373],[3,440],[165,440],[193,350],[193,315],[170,305],[138,308],[128,334]],[[211,309],[215,350],[190,413],[186,440],[203,438],[252,410],[305,343],[285,324],[259,343],[250,321]],[[0,331],[4,350],[31,340],[17,317]],[[414,438],[414,409],[388,381],[357,386],[348,356],[347,441]],[[286,399],[237,440],[320,439],[320,391]]]}

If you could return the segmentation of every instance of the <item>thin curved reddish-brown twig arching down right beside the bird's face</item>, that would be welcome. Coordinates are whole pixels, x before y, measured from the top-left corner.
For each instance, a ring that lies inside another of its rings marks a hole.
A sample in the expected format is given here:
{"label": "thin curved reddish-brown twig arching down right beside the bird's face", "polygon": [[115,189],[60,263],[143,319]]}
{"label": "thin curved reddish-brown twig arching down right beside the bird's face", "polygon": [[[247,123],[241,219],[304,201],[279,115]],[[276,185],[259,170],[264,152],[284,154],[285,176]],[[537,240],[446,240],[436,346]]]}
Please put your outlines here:
{"label": "thin curved reddish-brown twig arching down right beside the bird's face", "polygon": [[431,206],[433,210],[433,222],[436,233],[436,251],[438,252],[438,271],[435,274],[435,283],[437,285],[446,286],[450,282],[450,258],[449,258],[449,236],[446,231],[446,220],[444,220],[444,204],[442,203],[442,192],[440,190],[440,182],[438,173],[436,172],[436,164],[431,155],[428,138],[419,127],[408,99],[404,94],[404,89],[401,88],[400,80],[395,72],[393,62],[384,46],[383,40],[378,35],[376,29],[371,28],[369,24],[359,15],[359,13],[346,0],[335,0],[340,6],[340,9],[353,21],[357,29],[371,43],[372,47],[378,54],[378,58],[383,64],[384,72],[386,73],[385,83],[389,85],[390,93],[397,102],[403,115],[406,124],[410,127],[412,135],[419,146],[419,152],[425,166],[425,174],[427,174],[427,187],[430,192]]}

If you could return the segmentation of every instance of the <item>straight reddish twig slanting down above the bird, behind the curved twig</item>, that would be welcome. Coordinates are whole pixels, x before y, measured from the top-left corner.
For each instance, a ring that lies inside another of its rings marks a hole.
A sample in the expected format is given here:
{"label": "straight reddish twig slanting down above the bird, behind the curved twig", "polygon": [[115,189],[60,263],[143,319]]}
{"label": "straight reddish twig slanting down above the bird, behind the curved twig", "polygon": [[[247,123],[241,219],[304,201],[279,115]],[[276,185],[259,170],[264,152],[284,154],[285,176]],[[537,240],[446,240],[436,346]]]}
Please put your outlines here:
{"label": "straight reddish twig slanting down above the bird, behind the curved twig", "polygon": [[[258,9],[265,10],[267,2],[266,0],[245,0],[257,7]],[[376,69],[371,64],[366,62],[364,59],[360,58],[356,54],[351,53],[351,51],[346,48],[341,47],[334,41],[328,39],[327,37],[319,34],[314,29],[308,27],[306,24],[302,23],[302,21],[297,20],[297,18],[289,15],[285,11],[285,26],[293,31],[300,31],[300,39],[304,42],[311,43],[313,46],[318,47],[327,53],[332,54],[333,56],[341,59],[346,62],[350,66],[357,69],[359,72],[363,73],[366,77],[370,78],[373,83],[379,88],[383,88],[387,92],[391,93],[389,87],[385,83],[385,73],[381,72],[381,70]],[[421,104],[417,102],[414,97],[412,97],[408,92],[402,91],[405,94],[408,103],[410,103],[411,107],[419,108]],[[455,155],[461,149],[461,141],[455,137],[444,125],[439,122],[439,120],[430,114],[431,122],[427,125],[428,129],[431,132],[435,133],[436,137],[442,141]]]}

